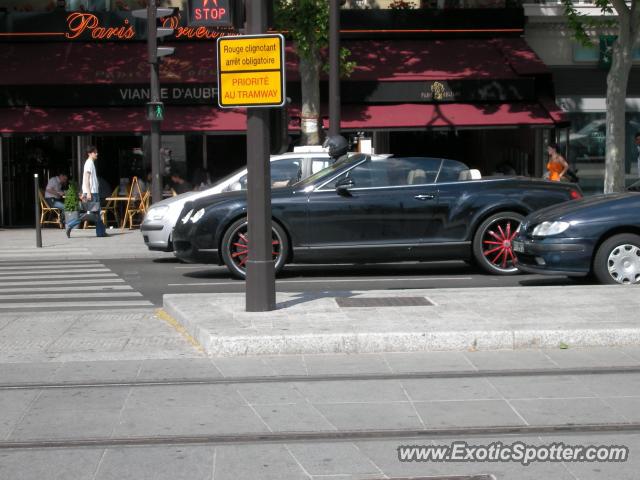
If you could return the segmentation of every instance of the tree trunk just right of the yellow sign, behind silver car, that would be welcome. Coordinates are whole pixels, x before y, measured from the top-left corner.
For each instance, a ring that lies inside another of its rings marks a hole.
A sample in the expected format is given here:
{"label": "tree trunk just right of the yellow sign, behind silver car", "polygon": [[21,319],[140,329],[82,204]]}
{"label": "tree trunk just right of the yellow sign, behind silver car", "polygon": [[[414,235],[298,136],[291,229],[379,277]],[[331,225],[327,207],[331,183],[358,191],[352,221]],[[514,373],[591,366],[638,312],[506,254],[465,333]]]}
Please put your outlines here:
{"label": "tree trunk just right of the yellow sign, behind silver car", "polygon": [[320,58],[300,58],[300,87],[302,90],[302,118],[300,144],[320,144]]}

